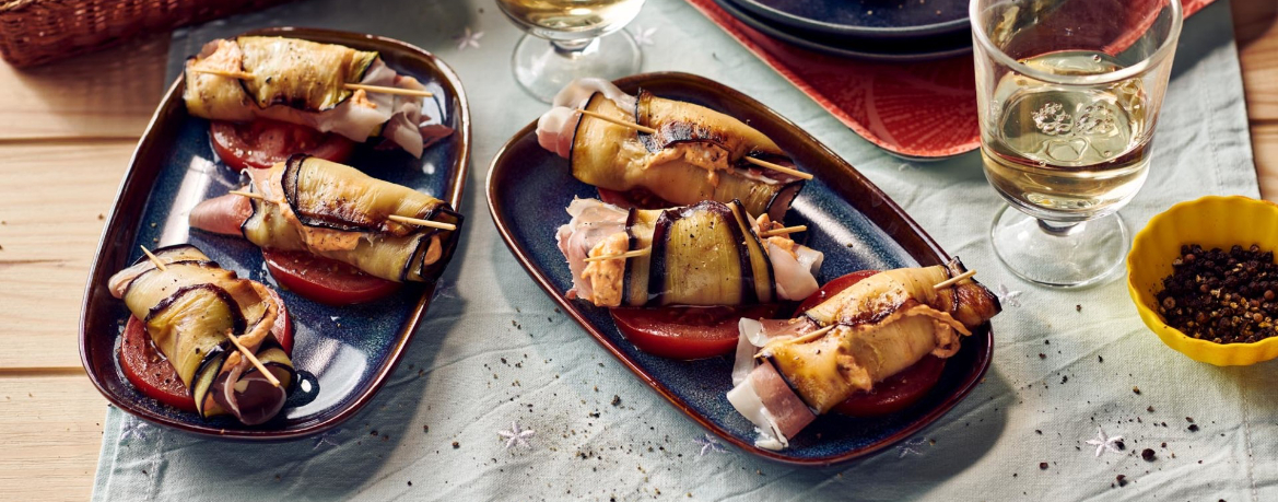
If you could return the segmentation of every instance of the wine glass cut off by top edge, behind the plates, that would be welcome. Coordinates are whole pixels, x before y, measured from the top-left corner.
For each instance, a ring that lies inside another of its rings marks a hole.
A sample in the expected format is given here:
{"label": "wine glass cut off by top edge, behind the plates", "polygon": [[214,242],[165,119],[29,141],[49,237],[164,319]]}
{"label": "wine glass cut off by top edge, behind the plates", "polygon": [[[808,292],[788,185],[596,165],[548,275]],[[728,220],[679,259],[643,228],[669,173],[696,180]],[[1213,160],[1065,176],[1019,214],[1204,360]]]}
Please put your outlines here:
{"label": "wine glass cut off by top edge, behind the plates", "polygon": [[510,61],[515,80],[533,97],[551,102],[576,78],[611,80],[638,73],[643,55],[621,28],[639,14],[643,3],[497,0],[501,11],[527,32]]}

